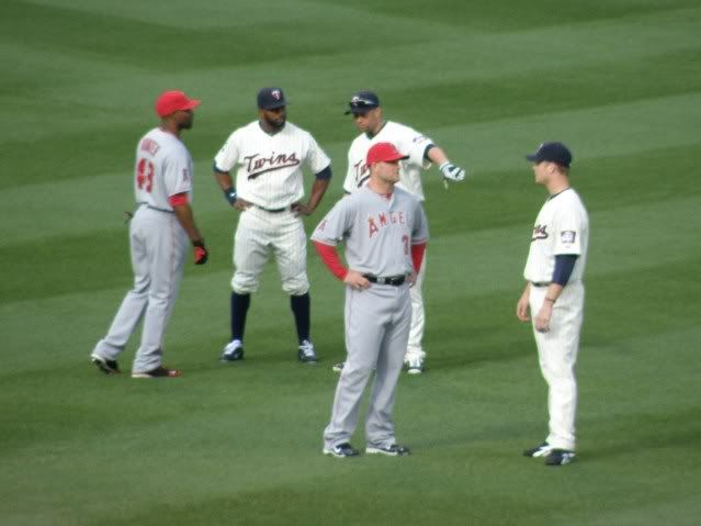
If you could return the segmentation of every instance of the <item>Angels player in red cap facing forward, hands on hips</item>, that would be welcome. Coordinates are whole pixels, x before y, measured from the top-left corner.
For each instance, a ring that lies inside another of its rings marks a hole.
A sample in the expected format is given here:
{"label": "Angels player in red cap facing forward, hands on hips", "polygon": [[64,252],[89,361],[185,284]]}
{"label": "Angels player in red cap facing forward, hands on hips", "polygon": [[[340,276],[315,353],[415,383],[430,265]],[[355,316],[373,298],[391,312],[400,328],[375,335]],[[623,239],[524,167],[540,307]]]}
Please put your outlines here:
{"label": "Angels player in red cap facing forward, hands on hips", "polygon": [[[324,262],[346,283],[348,359],[336,389],[331,422],[324,432],[325,455],[358,455],[350,437],[373,369],[365,452],[409,454],[396,443],[392,409],[409,338],[409,287],[421,268],[428,225],[421,203],[395,188],[399,161],[405,159],[393,144],[374,144],[366,156],[368,184],[336,203],[312,236]],[[346,243],[348,269],[336,251],[339,240]]]}

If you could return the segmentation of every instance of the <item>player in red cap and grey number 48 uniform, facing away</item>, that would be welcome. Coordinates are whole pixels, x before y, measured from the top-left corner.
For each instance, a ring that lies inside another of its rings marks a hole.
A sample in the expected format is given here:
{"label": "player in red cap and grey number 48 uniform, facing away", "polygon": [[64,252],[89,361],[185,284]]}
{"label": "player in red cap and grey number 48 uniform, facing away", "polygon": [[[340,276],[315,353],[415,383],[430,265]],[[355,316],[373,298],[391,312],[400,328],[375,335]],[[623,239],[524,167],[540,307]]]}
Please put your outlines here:
{"label": "player in red cap and grey number 48 uniform, facing away", "polygon": [[182,278],[188,239],[195,265],[207,261],[204,239],[195,226],[192,201],[192,158],[180,139],[190,130],[199,100],[182,91],[166,91],[156,101],[160,126],[136,147],[134,193],[137,210],[129,225],[134,288],[127,292],[108,335],[90,357],[100,370],[118,373],[117,356],[142,317],[142,345],[132,378],[172,378],[180,371],[161,365],[163,333]]}

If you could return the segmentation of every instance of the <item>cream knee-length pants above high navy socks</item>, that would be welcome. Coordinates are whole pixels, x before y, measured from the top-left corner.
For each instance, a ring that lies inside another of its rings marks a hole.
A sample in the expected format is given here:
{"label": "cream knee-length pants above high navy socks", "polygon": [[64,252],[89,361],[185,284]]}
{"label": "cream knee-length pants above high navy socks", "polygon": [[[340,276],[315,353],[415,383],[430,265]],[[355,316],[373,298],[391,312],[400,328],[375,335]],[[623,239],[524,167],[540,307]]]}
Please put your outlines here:
{"label": "cream knee-length pants above high navy socks", "polygon": [[306,294],[309,290],[307,238],[302,220],[291,210],[267,212],[258,206],[250,206],[239,215],[234,236],[234,292],[256,292],[271,251],[278,262],[282,289],[291,295]]}

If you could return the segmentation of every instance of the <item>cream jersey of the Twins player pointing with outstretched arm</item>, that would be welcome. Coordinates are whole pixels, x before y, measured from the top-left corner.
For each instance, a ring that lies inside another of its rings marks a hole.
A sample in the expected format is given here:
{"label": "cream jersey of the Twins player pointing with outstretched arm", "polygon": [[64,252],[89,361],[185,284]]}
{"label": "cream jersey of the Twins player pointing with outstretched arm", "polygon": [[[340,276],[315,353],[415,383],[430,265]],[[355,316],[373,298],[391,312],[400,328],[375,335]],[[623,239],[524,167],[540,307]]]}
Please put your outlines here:
{"label": "cream jersey of the Twins player pointing with outstretched arm", "polygon": [[375,143],[392,143],[403,155],[409,156],[408,159],[399,161],[397,187],[412,193],[419,201],[423,201],[421,169],[431,166],[431,163],[425,158],[425,154],[426,148],[433,142],[416,130],[392,121],[385,122],[382,130],[373,137],[369,137],[364,133],[355,137],[348,150],[348,172],[346,181],[343,181],[343,190],[353,193],[368,183],[370,171],[365,164],[365,157],[370,147]]}

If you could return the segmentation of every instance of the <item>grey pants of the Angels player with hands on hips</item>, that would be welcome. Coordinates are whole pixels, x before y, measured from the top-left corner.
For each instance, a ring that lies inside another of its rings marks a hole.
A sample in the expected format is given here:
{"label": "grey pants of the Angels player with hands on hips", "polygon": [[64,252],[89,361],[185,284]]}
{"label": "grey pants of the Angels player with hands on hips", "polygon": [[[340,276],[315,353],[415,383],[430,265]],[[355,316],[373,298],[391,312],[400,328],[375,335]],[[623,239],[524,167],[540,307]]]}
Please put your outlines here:
{"label": "grey pants of the Angels player with hands on hips", "polygon": [[324,432],[326,448],[350,441],[360,402],[375,368],[375,381],[365,418],[369,446],[395,443],[392,410],[395,389],[409,337],[411,301],[409,286],[372,284],[365,290],[346,289],[346,347],[331,422]]}

